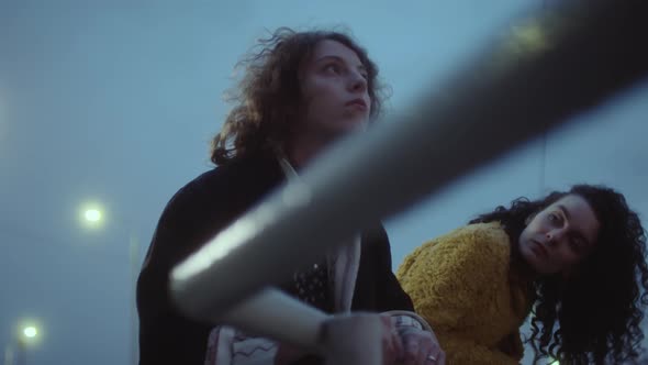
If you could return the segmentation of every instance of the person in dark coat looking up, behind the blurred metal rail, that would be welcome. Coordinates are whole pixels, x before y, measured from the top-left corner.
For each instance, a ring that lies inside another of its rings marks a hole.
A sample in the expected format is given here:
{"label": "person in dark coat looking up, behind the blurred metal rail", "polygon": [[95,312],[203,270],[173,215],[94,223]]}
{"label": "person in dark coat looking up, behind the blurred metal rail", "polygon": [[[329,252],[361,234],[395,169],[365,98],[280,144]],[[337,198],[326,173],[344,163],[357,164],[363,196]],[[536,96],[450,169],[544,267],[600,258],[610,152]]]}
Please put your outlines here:
{"label": "person in dark coat looking up, behind the blurred metal rail", "polygon": [[[141,365],[322,361],[269,339],[189,319],[168,297],[174,265],[280,184],[299,179],[300,169],[326,146],[366,129],[380,112],[378,69],[349,36],[280,29],[259,46],[243,62],[246,74],[233,98],[236,104],[214,137],[217,167],[180,189],[156,229],[137,283]],[[377,313],[386,364],[444,363],[434,334],[391,270],[380,223],[295,272],[280,289],[324,312]]]}

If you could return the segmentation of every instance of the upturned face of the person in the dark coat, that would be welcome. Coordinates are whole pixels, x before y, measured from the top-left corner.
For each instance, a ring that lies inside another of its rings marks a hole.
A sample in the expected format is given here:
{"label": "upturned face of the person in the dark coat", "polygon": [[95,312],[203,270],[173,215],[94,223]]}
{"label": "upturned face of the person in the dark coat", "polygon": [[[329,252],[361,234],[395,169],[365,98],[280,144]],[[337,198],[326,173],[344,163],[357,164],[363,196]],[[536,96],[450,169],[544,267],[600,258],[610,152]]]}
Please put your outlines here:
{"label": "upturned face of the person in the dark coat", "polygon": [[327,139],[366,128],[371,110],[367,70],[353,49],[332,40],[320,42],[300,77],[305,108],[298,133]]}

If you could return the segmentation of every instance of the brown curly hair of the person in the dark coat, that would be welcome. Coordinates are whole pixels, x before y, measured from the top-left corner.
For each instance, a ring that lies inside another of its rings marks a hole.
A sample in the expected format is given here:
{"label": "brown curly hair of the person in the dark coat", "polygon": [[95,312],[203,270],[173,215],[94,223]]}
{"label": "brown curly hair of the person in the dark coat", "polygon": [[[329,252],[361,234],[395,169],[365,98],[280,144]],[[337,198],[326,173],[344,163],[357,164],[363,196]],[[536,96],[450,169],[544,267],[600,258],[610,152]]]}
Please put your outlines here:
{"label": "brown curly hair of the person in the dark coat", "polygon": [[252,52],[237,64],[245,67],[245,75],[230,98],[235,107],[212,140],[211,161],[214,164],[224,165],[259,151],[286,151],[297,111],[303,103],[300,65],[324,40],[339,42],[358,55],[367,69],[370,117],[380,113],[382,87],[378,81],[378,67],[349,35],[280,27],[269,38],[259,41],[260,51]]}

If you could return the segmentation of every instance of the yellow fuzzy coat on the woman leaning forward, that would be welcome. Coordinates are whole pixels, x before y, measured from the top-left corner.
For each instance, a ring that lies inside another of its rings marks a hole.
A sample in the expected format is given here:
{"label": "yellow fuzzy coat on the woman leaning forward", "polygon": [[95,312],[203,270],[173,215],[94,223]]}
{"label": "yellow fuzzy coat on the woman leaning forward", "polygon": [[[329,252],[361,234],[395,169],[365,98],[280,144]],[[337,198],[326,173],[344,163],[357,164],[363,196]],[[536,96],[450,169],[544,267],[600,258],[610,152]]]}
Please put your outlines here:
{"label": "yellow fuzzy coat on the woman leaning forward", "polygon": [[510,273],[509,235],[492,222],[423,244],[396,275],[434,329],[448,365],[502,365],[519,363],[518,329],[532,306],[528,280]]}

